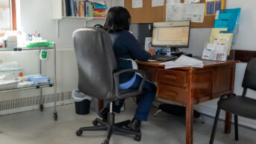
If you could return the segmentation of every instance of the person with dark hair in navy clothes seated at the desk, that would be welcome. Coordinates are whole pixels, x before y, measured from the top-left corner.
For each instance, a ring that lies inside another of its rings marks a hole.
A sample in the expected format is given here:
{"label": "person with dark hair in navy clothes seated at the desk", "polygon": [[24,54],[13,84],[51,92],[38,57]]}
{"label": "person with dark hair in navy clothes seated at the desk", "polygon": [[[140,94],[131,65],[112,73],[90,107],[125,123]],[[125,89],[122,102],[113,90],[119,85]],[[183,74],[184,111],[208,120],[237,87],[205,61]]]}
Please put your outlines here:
{"label": "person with dark hair in navy clothes seated at the desk", "polygon": [[[147,61],[155,54],[154,49],[146,51],[140,47],[137,39],[128,31],[130,24],[131,15],[125,7],[110,8],[103,28],[110,33],[119,70],[137,68],[134,59]],[[141,81],[142,78],[136,73],[123,73],[119,77],[119,88],[139,88]],[[146,93],[140,96],[140,102],[137,106],[134,118],[131,120],[131,129],[134,131],[140,131],[141,121],[148,120],[149,109],[156,96],[157,87],[151,82],[145,82],[144,90]],[[119,113],[124,101],[125,99],[122,99],[119,101],[119,105],[114,104],[113,111]],[[99,116],[102,117],[104,121],[107,121],[108,111],[109,104],[99,112]]]}

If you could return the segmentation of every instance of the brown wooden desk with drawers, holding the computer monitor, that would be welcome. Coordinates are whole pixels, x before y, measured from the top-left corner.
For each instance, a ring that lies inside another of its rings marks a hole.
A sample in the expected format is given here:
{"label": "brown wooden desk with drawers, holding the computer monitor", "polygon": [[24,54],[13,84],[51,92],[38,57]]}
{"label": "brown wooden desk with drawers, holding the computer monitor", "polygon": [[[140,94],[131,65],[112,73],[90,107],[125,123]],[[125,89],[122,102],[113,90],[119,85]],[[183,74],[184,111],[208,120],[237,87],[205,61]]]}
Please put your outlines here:
{"label": "brown wooden desk with drawers, holding the computer monitor", "polygon": [[[204,61],[204,68],[164,69],[160,62],[137,62],[139,69],[157,82],[157,98],[187,106],[186,142],[193,143],[193,105],[234,91],[236,63]],[[225,132],[231,131],[231,114],[226,114]],[[210,140],[210,137],[209,137]]]}

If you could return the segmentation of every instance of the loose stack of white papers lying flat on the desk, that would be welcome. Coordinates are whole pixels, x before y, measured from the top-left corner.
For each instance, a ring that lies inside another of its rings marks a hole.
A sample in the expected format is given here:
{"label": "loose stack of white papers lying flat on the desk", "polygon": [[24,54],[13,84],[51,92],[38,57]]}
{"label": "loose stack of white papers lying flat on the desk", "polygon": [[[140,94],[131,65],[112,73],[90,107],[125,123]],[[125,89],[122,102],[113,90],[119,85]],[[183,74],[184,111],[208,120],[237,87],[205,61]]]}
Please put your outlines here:
{"label": "loose stack of white papers lying flat on the desk", "polygon": [[204,64],[199,59],[194,59],[189,56],[180,56],[175,61],[163,62],[160,65],[165,65],[165,69],[170,68],[180,68],[180,67],[195,67],[195,68],[203,68]]}

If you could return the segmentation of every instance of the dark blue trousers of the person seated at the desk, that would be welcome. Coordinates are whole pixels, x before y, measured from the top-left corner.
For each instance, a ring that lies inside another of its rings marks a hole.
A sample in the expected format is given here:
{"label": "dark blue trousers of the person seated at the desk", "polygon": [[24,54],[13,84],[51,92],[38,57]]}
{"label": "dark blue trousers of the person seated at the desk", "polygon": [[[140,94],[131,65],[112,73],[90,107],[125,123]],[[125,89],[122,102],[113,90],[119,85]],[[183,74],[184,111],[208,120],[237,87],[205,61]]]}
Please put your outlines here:
{"label": "dark blue trousers of the person seated at the desk", "polygon": [[[131,85],[130,88],[134,88],[134,89],[139,88],[141,81],[142,81],[142,78],[140,76],[136,76],[135,82],[133,85]],[[149,109],[157,93],[157,87],[151,82],[146,81],[143,87],[143,90],[146,92],[140,96],[140,102],[137,106],[137,110],[136,110],[136,113],[134,114],[134,118],[137,120],[147,121],[149,117]],[[113,111],[116,113],[119,113],[120,108],[122,108],[122,105],[124,102],[125,102],[125,99],[120,99],[119,105],[116,105],[115,102],[113,102]],[[107,108],[109,108],[109,104],[107,105]]]}

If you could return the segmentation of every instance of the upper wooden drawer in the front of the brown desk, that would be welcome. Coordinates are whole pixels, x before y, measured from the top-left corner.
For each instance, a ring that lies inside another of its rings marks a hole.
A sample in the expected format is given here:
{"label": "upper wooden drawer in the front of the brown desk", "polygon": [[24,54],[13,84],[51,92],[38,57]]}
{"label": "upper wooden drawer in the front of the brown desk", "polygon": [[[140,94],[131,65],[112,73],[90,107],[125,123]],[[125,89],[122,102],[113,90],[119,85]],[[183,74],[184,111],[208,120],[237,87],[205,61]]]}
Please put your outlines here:
{"label": "upper wooden drawer in the front of the brown desk", "polygon": [[186,88],[187,72],[178,70],[163,70],[157,71],[157,83],[166,85],[177,85]]}

